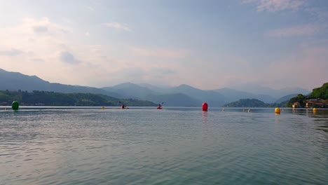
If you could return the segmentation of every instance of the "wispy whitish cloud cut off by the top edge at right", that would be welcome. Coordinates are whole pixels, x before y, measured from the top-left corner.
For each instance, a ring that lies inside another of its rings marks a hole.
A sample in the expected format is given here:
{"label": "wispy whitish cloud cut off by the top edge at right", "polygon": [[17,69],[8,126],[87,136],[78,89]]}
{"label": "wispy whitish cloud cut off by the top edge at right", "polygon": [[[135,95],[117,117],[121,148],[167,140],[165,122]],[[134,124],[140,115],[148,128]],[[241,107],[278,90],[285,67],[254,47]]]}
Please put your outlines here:
{"label": "wispy whitish cloud cut off by the top edge at right", "polygon": [[305,5],[303,0],[242,0],[242,4],[256,4],[257,11],[297,11]]}

